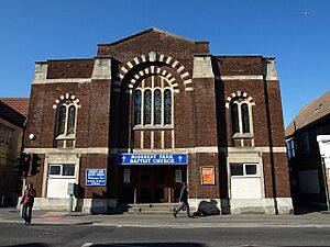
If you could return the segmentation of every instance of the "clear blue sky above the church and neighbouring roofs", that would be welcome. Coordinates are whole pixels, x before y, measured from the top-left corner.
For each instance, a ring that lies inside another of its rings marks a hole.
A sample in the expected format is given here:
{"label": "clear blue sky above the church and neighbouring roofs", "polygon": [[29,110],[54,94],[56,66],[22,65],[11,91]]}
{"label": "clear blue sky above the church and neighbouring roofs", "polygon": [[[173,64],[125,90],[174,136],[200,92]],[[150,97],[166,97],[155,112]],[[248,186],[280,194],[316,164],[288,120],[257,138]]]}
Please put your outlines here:
{"label": "clear blue sky above the church and neighbouring roofs", "polygon": [[0,97],[29,97],[36,60],[94,57],[155,26],[215,55],[275,56],[287,125],[330,88],[329,11],[328,0],[0,1]]}

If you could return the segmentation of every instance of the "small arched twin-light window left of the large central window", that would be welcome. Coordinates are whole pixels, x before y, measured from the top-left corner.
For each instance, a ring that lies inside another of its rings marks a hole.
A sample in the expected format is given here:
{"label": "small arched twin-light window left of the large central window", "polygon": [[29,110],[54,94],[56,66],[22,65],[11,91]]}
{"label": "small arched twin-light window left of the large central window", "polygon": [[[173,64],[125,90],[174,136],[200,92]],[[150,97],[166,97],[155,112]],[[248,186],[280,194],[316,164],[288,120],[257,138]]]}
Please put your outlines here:
{"label": "small arched twin-light window left of the large central window", "polygon": [[69,100],[62,101],[56,112],[56,137],[74,137],[77,106]]}

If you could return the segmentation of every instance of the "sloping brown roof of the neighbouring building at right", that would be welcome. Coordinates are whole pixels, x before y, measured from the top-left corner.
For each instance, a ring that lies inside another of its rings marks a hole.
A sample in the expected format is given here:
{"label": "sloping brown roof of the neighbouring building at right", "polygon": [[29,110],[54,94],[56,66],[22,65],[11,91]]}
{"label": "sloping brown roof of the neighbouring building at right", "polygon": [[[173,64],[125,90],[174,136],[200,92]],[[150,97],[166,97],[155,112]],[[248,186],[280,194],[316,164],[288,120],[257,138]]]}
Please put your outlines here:
{"label": "sloping brown roof of the neighbouring building at right", "polygon": [[302,128],[327,115],[330,115],[330,91],[306,104],[285,130],[285,136]]}

